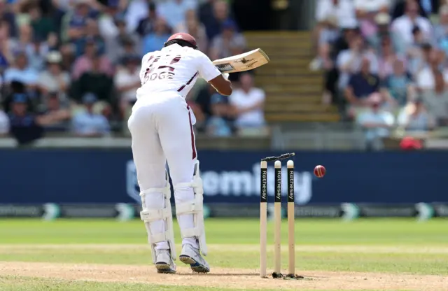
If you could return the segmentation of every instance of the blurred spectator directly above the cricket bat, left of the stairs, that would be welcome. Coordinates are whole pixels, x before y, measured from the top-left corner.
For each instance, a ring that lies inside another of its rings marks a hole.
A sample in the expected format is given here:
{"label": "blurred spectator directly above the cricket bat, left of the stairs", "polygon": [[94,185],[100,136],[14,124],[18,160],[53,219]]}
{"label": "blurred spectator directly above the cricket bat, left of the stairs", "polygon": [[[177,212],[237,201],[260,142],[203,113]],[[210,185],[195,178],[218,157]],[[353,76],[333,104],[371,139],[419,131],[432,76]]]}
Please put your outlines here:
{"label": "blurred spectator directly above the cricket bat, left of the stairs", "polygon": [[237,32],[237,24],[233,20],[223,22],[223,32],[211,43],[211,59],[221,59],[241,54],[246,48],[246,39]]}

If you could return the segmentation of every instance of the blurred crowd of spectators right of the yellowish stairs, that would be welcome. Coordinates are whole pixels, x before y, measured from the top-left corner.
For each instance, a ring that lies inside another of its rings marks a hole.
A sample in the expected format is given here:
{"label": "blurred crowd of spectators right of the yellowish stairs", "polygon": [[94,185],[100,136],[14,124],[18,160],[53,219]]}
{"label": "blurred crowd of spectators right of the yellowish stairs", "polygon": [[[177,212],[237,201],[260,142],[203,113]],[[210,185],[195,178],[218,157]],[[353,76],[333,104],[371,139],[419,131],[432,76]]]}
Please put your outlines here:
{"label": "blurred crowd of spectators right of the yellowish stairs", "polygon": [[448,1],[318,0],[316,20],[310,68],[325,72],[323,102],[367,146],[448,126]]}

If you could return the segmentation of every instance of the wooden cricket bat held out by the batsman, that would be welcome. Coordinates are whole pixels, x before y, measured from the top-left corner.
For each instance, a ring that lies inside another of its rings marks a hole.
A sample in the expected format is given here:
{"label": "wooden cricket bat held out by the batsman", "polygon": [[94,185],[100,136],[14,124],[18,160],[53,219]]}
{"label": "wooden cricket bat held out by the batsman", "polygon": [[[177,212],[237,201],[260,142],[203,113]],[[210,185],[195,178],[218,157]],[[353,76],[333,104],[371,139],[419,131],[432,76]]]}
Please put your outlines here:
{"label": "wooden cricket bat held out by the batsman", "polygon": [[232,57],[225,57],[224,59],[216,59],[213,64],[221,73],[235,73],[248,71],[269,62],[269,57],[262,51],[261,48],[244,52],[240,55]]}

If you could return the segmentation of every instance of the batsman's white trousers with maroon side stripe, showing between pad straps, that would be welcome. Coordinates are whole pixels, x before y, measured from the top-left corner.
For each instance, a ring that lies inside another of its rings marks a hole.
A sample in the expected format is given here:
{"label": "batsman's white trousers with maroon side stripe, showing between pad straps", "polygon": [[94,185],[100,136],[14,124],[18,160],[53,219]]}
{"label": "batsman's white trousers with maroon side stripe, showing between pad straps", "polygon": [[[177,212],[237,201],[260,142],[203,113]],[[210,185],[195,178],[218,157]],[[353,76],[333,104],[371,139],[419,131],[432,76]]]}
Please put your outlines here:
{"label": "batsman's white trousers with maroon side stripe, showing between pad straps", "polygon": [[[127,122],[132,135],[132,155],[141,191],[165,187],[166,162],[173,186],[190,183],[197,159],[192,123],[194,115],[186,100],[173,93],[153,94],[137,100]],[[184,187],[175,190],[174,198],[176,204],[193,201],[195,193],[192,187]],[[146,194],[145,202],[144,207],[148,209],[165,208],[162,192]],[[180,215],[178,222],[181,229],[195,226],[193,214]],[[151,222],[149,227],[153,234],[161,233],[166,227],[165,220]],[[199,248],[195,238],[184,238],[182,243]],[[156,243],[155,248],[167,250],[169,244]]]}

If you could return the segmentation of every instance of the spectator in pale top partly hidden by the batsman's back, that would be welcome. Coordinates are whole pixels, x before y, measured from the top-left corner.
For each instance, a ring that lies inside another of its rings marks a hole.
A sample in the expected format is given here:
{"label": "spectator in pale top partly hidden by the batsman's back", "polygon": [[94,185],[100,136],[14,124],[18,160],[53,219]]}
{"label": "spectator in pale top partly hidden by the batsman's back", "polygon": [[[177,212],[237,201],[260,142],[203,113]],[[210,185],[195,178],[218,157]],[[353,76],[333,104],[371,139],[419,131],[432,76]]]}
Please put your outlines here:
{"label": "spectator in pale top partly hidden by the batsman's back", "polygon": [[137,89],[140,81],[140,57],[138,55],[126,55],[122,58],[121,66],[113,79],[118,92],[120,113],[127,120],[126,115],[130,107],[137,100]]}

